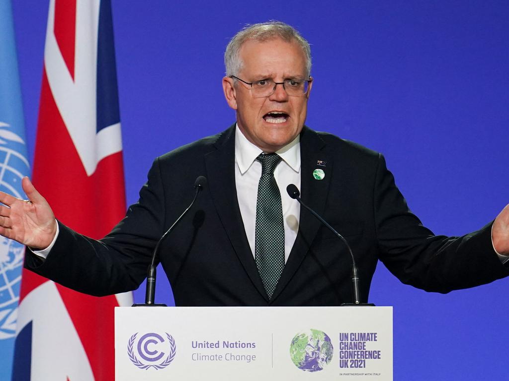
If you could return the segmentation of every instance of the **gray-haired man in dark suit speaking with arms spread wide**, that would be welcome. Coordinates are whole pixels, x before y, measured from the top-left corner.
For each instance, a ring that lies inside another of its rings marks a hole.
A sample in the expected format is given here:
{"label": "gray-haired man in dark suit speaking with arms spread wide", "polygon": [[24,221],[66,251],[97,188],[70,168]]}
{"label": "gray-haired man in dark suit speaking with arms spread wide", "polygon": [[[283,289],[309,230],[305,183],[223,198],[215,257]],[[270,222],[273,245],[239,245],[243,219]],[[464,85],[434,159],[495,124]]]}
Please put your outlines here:
{"label": "gray-haired man in dark suit speaking with arms spread wide", "polygon": [[437,292],[509,274],[509,205],[478,232],[434,236],[408,210],[380,154],[304,126],[310,52],[292,27],[240,31],[225,64],[224,95],[237,123],[156,158],[139,202],[103,240],[55,223],[27,178],[30,201],[0,196],[8,206],[0,207],[0,234],[35,251],[27,267],[92,295],[137,288],[157,240],[205,175],[203,194],[161,245],[177,305],[350,301],[348,252],[286,194],[290,183],[349,241],[364,301],[378,260],[403,282]]}

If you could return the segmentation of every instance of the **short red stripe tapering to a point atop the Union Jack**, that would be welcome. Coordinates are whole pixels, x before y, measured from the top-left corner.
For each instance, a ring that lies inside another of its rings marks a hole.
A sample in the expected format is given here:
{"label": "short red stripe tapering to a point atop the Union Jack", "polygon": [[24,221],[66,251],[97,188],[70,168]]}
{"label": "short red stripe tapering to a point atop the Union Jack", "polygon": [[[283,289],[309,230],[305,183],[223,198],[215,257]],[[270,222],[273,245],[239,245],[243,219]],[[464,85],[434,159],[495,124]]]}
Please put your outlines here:
{"label": "short red stripe tapering to a point atop the Union Jack", "polygon": [[64,62],[74,80],[74,50],[76,44],[76,0],[55,0],[55,25],[53,28],[56,43],[64,57]]}

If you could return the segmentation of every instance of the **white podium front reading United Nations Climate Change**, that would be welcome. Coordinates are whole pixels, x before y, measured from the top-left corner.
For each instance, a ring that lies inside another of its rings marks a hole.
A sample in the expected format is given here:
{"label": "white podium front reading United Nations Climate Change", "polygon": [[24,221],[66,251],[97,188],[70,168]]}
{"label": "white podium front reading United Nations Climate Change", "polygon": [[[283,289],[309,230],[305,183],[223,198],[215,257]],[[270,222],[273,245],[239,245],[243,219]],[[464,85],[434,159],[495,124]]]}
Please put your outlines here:
{"label": "white podium front reading United Nations Climate Change", "polygon": [[392,307],[117,307],[116,380],[392,380]]}

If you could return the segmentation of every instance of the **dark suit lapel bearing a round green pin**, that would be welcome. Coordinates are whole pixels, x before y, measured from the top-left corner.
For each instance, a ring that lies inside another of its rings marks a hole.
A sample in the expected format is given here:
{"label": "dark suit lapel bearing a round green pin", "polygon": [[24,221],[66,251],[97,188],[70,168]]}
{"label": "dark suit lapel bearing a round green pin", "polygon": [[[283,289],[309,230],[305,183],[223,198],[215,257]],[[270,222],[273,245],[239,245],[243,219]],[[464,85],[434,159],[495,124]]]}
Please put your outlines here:
{"label": "dark suit lapel bearing a round green pin", "polygon": [[[320,138],[320,136],[304,126],[300,135],[301,199],[307,206],[315,210],[319,215],[323,215],[325,211],[333,164],[332,157],[327,157],[325,155],[325,150],[323,149],[324,146],[325,142]],[[321,161],[322,165],[325,162],[325,167],[319,166],[317,164],[318,161]],[[324,171],[325,177],[322,180],[317,180],[313,176],[313,171],[315,169],[321,169]],[[277,298],[299,268],[311,243],[315,239],[319,228],[320,221],[301,206],[299,232],[297,233],[295,243],[292,247],[292,251],[290,252],[290,256],[288,257],[283,273],[277,283],[277,287],[272,296],[272,301]]]}

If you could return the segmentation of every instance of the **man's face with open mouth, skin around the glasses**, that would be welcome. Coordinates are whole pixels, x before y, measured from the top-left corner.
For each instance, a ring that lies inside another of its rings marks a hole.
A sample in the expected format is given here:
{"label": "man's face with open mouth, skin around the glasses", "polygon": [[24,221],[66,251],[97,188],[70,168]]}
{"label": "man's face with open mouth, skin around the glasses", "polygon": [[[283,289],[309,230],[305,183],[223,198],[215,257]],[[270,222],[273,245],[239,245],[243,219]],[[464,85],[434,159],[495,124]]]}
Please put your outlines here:
{"label": "man's face with open mouth, skin around the glasses", "polygon": [[[306,58],[297,42],[274,38],[264,42],[248,40],[239,51],[243,63],[237,77],[246,82],[270,79],[308,79]],[[244,136],[266,152],[275,152],[295,139],[306,119],[311,83],[302,97],[289,96],[282,85],[265,98],[253,98],[250,86],[223,78],[228,104],[237,110],[237,123]],[[275,113],[276,117],[270,115]]]}

